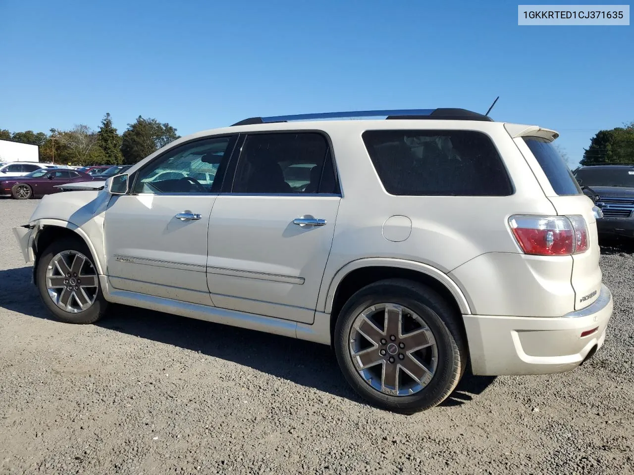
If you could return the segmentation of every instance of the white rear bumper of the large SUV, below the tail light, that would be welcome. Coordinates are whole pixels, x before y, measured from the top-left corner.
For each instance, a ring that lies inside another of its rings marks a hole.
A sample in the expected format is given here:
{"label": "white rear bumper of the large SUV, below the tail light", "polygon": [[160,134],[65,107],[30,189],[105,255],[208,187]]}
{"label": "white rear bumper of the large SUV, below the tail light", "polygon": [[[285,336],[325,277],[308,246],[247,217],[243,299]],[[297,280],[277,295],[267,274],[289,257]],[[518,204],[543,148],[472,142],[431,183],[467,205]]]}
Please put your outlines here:
{"label": "white rear bumper of the large SUV, below the tail light", "polygon": [[592,305],[564,317],[463,315],[472,371],[501,376],[574,369],[603,345],[613,307],[602,285]]}

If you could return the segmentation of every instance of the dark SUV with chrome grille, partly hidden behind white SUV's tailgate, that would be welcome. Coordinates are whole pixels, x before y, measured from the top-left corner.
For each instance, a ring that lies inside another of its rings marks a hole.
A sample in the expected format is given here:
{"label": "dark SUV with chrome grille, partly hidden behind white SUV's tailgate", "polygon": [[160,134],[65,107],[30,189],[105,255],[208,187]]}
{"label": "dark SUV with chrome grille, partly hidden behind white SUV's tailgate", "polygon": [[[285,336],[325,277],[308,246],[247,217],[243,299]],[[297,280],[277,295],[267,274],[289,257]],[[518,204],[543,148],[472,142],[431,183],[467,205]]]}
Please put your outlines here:
{"label": "dark SUV with chrome grille, partly hidden behind white SUV's tailgate", "polygon": [[603,212],[599,234],[634,237],[634,165],[579,167],[574,177]]}

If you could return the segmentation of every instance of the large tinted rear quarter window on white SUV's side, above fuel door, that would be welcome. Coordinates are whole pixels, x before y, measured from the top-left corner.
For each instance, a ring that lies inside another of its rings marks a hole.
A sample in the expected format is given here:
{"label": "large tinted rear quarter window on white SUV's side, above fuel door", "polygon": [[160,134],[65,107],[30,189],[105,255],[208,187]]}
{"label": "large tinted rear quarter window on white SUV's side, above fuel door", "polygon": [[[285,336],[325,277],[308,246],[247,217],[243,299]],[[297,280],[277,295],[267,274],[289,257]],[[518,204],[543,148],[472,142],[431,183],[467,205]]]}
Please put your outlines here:
{"label": "large tinted rear quarter window on white SUV's side, above fuel door", "polygon": [[491,139],[474,130],[366,130],[385,191],[405,196],[508,196],[513,186]]}

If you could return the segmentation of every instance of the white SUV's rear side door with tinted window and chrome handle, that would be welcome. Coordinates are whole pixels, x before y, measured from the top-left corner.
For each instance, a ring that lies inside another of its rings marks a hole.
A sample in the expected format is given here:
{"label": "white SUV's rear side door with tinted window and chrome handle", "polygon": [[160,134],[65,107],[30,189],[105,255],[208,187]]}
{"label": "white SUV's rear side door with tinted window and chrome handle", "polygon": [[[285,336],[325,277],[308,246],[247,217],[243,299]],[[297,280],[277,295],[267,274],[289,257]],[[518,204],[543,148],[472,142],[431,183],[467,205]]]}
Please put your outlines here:
{"label": "white SUV's rear side door with tinted window and chrome handle", "polygon": [[214,304],[312,323],[340,201],[326,137],[247,136],[228,191],[209,222]]}

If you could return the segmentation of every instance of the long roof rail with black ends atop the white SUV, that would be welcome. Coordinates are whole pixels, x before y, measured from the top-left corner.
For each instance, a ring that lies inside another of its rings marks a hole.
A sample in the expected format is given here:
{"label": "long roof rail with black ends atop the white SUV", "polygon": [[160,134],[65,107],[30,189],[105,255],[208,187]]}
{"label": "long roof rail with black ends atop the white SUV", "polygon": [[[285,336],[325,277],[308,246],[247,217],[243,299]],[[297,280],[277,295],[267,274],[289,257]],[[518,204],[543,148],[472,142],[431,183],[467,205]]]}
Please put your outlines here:
{"label": "long roof rail with black ends atop the white SUV", "polygon": [[483,115],[466,109],[396,109],[396,110],[360,110],[346,112],[321,112],[313,114],[276,115],[271,117],[250,117],[233,125],[271,124],[273,122],[290,122],[293,120],[320,120],[334,118],[385,117],[391,119],[430,119],[430,120],[488,120]]}

